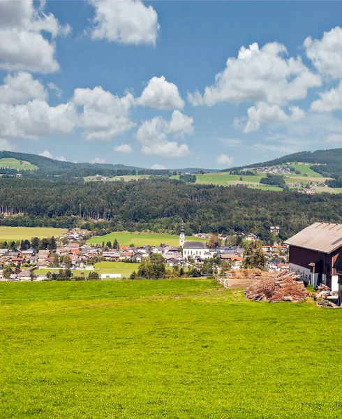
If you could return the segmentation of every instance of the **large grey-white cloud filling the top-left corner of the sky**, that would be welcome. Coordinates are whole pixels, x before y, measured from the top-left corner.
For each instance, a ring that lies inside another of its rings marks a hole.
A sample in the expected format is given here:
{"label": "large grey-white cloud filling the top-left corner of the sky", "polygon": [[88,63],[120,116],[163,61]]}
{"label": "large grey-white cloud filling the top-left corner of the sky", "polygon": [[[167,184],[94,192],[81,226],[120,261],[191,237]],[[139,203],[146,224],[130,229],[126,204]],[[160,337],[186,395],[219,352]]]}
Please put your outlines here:
{"label": "large grey-white cloud filling the top-left corner of the sky", "polygon": [[[59,70],[53,38],[66,35],[54,15],[34,8],[33,0],[0,0],[0,68],[53,73]],[[43,37],[47,32],[51,41]]]}

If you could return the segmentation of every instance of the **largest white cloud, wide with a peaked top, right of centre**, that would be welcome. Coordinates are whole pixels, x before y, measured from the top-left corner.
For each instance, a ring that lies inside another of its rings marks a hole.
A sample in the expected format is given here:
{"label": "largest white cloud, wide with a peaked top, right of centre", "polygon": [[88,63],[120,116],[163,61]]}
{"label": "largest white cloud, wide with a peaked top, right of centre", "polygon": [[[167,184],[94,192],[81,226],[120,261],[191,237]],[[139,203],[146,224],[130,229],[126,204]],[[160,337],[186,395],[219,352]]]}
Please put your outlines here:
{"label": "largest white cloud, wide with a peaked top, right of centre", "polygon": [[286,105],[303,99],[311,87],[321,84],[320,76],[308,70],[300,57],[286,57],[287,50],[279,43],[267,43],[259,49],[258,43],[241,47],[237,58],[228,58],[222,73],[205,88],[188,93],[193,105],[212,106],[220,102],[244,101]]}

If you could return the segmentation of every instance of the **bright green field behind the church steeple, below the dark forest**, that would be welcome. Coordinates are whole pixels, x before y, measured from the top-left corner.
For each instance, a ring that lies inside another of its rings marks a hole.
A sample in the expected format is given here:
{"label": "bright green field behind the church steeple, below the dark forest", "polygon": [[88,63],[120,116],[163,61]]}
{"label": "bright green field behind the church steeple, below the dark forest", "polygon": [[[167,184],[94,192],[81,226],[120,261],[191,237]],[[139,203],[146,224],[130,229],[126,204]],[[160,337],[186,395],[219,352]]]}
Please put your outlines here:
{"label": "bright green field behind the church steeple, below the dark forest", "polygon": [[[150,244],[151,246],[159,246],[161,243],[170,244],[171,246],[179,245],[179,235],[170,234],[159,234],[159,233],[130,233],[128,231],[119,231],[109,233],[104,236],[91,237],[88,240],[90,244],[102,243],[102,242],[114,242],[117,239],[121,246],[129,246],[134,244],[135,246],[142,246],[143,244]],[[203,239],[198,237],[187,236],[186,240],[192,242],[205,242]]]}

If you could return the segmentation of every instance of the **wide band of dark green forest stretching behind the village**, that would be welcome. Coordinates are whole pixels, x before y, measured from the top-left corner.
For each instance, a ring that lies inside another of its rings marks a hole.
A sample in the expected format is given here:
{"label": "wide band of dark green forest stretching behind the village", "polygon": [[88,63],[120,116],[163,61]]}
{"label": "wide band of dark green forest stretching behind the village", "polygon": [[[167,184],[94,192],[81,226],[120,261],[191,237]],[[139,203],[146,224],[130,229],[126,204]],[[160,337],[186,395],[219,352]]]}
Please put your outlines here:
{"label": "wide band of dark green forest stretching behind the village", "polygon": [[82,226],[96,233],[154,230],[186,234],[260,233],[281,227],[281,238],[315,221],[342,223],[342,195],[313,196],[214,186],[170,179],[131,182],[52,182],[0,179],[0,224]]}

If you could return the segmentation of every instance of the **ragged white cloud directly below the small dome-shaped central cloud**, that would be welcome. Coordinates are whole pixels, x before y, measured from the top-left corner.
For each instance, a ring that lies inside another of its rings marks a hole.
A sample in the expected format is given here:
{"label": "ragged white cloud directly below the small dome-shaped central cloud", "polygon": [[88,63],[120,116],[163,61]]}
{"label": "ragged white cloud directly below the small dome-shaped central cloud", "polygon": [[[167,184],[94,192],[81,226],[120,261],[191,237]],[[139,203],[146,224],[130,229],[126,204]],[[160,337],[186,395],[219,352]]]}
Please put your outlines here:
{"label": "ragged white cloud directly below the small dome-shaped central cloud", "polygon": [[189,129],[188,122],[183,124],[182,127],[181,125],[172,124],[173,118],[181,119],[179,115],[174,117],[175,112],[179,111],[173,112],[170,122],[162,117],[154,117],[142,122],[137,131],[137,140],[142,144],[143,154],[154,154],[156,156],[170,158],[185,157],[189,154],[187,144],[184,143],[179,145],[177,141],[170,141],[168,138],[168,134],[172,134],[174,137],[182,137],[186,133],[192,133]]}

